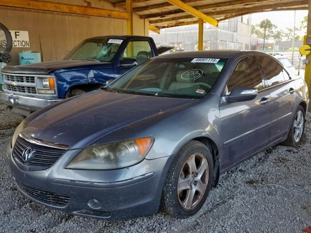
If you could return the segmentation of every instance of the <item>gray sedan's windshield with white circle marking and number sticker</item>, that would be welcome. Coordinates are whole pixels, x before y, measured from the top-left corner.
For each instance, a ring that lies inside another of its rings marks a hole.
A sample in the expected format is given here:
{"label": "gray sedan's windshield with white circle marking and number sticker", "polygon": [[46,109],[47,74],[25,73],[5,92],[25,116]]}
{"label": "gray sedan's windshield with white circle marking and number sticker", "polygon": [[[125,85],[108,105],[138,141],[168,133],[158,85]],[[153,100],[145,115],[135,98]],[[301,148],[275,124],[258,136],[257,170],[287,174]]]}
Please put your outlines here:
{"label": "gray sedan's windshield with white circle marking and number sticker", "polygon": [[106,91],[158,97],[206,96],[225,66],[221,58],[158,58],[135,67]]}

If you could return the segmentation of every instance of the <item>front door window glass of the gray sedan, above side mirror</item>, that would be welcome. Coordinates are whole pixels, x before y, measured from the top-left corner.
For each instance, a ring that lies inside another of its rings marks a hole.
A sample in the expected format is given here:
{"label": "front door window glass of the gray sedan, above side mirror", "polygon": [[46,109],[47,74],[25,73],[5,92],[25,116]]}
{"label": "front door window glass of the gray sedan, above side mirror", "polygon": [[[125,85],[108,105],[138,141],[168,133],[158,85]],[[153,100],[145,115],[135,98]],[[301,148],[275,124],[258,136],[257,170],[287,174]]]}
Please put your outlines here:
{"label": "front door window glass of the gray sedan, above side mirror", "polygon": [[235,67],[227,84],[229,94],[235,87],[264,88],[260,68],[255,56],[243,58]]}

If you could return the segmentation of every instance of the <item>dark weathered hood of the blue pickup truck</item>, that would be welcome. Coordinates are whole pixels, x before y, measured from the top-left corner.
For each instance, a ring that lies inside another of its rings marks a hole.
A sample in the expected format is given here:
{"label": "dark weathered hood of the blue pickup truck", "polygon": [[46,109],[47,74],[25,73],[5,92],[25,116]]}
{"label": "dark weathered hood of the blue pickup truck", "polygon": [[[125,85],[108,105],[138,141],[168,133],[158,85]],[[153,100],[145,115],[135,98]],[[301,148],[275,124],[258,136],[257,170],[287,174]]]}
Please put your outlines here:
{"label": "dark weathered hood of the blue pickup truck", "polygon": [[109,66],[107,62],[93,61],[76,61],[76,60],[61,60],[54,62],[41,62],[22,66],[5,66],[2,72],[17,73],[17,74],[49,74],[52,71],[72,68],[86,68],[87,66]]}

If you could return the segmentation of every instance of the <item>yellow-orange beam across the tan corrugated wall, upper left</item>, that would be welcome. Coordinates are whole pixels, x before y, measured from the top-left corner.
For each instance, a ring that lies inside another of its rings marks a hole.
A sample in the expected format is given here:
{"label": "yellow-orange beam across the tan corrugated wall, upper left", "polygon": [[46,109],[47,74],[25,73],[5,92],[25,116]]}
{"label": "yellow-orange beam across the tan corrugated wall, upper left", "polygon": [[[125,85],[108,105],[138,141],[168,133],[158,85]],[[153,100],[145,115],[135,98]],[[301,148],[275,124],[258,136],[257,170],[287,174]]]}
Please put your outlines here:
{"label": "yellow-orange beam across the tan corrugated wall, upper left", "polygon": [[84,15],[84,16],[128,19],[128,14],[126,12],[111,11],[111,10],[106,10],[106,9],[96,8],[96,7],[71,5],[71,4],[50,2],[50,1],[0,0],[0,6],[61,12],[61,13],[77,14],[77,15]]}

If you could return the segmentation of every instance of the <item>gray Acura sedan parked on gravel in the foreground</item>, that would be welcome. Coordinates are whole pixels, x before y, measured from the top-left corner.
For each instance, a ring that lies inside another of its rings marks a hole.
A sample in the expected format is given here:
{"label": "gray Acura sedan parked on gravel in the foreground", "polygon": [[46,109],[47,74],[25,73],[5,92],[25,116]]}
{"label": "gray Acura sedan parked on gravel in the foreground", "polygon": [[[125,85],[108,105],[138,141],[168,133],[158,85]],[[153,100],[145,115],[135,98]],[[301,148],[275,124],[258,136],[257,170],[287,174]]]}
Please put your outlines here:
{"label": "gray Acura sedan parked on gravel in the foreground", "polygon": [[305,81],[268,54],[164,55],[28,116],[7,156],[19,190],[52,208],[185,218],[220,174],[278,143],[298,146],[308,106]]}

